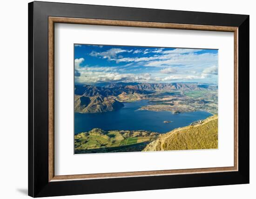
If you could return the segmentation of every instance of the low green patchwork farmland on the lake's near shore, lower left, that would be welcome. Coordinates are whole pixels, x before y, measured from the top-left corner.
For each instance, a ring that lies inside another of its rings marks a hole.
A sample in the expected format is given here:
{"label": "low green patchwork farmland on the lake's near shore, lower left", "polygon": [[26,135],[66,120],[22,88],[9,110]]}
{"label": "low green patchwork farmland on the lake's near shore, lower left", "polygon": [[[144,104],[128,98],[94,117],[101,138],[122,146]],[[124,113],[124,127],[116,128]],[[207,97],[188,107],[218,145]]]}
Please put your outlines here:
{"label": "low green patchwork farmland on the lake's near shore, lower left", "polygon": [[74,136],[75,153],[142,151],[157,136],[158,133],[148,131],[103,131],[94,128]]}

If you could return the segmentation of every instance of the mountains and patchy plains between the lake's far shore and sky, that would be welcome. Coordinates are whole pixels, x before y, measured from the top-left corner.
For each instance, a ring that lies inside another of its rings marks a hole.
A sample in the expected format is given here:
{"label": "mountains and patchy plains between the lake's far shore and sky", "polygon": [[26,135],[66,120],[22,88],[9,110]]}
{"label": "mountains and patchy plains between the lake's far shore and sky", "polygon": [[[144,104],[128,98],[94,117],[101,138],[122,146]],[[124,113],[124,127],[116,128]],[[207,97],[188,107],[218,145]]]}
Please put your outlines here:
{"label": "mountains and patchy plains between the lake's far shore and sky", "polygon": [[172,113],[207,111],[217,113],[217,86],[198,83],[136,84],[75,86],[74,110],[78,113],[102,113],[123,107],[123,102],[148,99],[139,110]]}

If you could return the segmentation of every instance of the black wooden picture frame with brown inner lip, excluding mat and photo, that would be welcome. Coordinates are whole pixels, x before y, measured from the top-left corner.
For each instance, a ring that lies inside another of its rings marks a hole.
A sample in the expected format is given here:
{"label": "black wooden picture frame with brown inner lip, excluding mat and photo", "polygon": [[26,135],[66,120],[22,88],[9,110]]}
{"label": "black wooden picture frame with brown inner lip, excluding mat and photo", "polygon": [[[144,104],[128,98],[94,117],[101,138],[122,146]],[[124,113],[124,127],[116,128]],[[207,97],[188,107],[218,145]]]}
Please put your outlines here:
{"label": "black wooden picture frame with brown inner lip, excluding mat and photo", "polygon": [[[54,175],[54,23],[233,32],[234,166]],[[35,1],[28,4],[28,24],[28,194],[30,196],[249,183],[248,15]],[[147,185],[145,185],[146,181],[149,182]]]}

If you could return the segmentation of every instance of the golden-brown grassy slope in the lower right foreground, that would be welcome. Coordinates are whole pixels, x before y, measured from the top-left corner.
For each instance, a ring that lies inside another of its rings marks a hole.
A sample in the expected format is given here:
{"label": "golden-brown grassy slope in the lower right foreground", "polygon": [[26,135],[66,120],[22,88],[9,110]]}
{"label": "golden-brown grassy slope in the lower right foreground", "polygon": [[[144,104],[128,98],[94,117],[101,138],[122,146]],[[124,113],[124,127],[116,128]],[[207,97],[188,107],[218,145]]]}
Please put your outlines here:
{"label": "golden-brown grassy slope in the lower right foreground", "polygon": [[211,116],[195,126],[185,126],[159,135],[143,151],[168,151],[218,148],[218,115]]}

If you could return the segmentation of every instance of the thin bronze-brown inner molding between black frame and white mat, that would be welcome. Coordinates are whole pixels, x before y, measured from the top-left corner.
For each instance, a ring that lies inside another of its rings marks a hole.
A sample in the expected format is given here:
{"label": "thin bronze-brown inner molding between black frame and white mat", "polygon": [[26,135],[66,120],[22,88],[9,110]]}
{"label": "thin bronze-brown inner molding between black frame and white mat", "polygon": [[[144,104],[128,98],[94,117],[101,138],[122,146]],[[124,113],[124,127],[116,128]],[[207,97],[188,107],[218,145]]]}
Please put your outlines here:
{"label": "thin bronze-brown inner molding between black frame and white mat", "polygon": [[[148,27],[183,30],[204,30],[234,33],[234,166],[177,169],[142,172],[114,172],[79,175],[54,175],[54,23],[84,24],[99,26]],[[103,179],[172,174],[233,172],[238,171],[238,27],[204,26],[174,23],[157,23],[126,20],[100,20],[66,17],[48,17],[48,181]]]}

